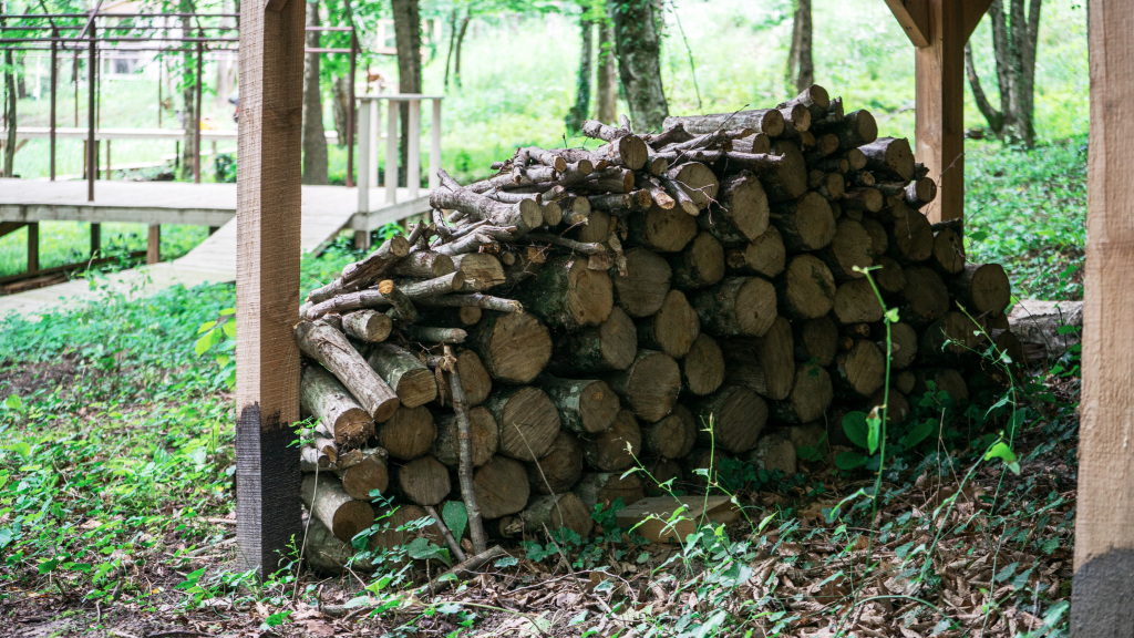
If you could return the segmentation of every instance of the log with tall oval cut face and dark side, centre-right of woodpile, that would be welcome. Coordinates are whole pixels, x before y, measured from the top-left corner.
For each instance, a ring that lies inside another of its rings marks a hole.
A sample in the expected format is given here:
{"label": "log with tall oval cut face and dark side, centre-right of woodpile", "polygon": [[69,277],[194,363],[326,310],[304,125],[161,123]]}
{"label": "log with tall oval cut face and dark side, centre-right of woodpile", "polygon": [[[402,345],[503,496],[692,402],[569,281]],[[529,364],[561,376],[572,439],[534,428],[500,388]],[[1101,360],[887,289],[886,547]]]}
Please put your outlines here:
{"label": "log with tall oval cut face and dark side, centre-right of woodpile", "polygon": [[725,379],[773,401],[787,398],[795,381],[792,325],[779,317],[762,337],[725,341]]}

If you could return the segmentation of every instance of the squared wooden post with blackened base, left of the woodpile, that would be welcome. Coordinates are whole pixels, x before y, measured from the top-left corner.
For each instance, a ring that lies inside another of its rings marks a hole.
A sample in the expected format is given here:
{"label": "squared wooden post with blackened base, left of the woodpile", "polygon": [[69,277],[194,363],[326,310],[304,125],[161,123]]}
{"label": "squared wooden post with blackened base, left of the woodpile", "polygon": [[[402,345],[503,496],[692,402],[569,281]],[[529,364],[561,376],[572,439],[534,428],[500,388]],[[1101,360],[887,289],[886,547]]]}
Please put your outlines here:
{"label": "squared wooden post with blackened base, left of the woodpile", "polygon": [[277,569],[299,532],[301,128],[304,3],[240,6],[236,254],[237,543]]}

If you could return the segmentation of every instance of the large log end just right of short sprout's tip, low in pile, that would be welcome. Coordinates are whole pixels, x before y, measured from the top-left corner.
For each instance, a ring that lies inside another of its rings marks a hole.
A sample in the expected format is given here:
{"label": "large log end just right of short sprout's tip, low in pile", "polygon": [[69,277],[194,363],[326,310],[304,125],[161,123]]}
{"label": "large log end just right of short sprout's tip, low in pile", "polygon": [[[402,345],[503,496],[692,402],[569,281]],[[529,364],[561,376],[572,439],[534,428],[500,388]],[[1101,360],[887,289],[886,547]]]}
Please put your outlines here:
{"label": "large log end just right of short sprout's tip, low in pile", "polygon": [[748,388],[725,386],[697,403],[697,418],[705,423],[697,434],[702,445],[738,454],[755,447],[768,422],[768,404]]}

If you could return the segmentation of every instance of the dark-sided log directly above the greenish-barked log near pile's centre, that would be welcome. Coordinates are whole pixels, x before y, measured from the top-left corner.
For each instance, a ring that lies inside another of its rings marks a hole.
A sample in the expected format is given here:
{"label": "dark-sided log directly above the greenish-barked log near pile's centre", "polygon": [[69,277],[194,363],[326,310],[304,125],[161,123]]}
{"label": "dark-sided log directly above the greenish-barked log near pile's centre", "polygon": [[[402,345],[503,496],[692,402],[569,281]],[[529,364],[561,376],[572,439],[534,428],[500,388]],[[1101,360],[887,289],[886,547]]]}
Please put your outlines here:
{"label": "dark-sided log directly above the greenish-barked log near pile's centre", "polygon": [[637,330],[634,321],[621,308],[615,308],[600,326],[559,337],[552,370],[562,375],[625,370],[636,354]]}

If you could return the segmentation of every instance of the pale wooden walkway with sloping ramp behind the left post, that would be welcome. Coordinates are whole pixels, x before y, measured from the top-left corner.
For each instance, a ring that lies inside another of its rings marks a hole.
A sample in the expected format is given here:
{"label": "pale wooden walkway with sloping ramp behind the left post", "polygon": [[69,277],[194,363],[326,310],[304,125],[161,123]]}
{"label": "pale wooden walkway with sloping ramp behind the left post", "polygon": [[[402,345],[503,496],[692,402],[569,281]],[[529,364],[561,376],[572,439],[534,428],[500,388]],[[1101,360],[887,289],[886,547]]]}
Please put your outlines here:
{"label": "pale wooden walkway with sloping ramp behind the left post", "polygon": [[[373,210],[357,212],[357,191],[341,186],[304,186],[301,246],[312,252],[340,230],[369,230],[429,210],[429,198],[388,205],[382,188],[371,188]],[[184,257],[110,275],[108,285],[141,299],[177,284],[186,287],[236,279],[236,185],[161,182],[99,182],[95,202],[86,201],[85,182],[0,179],[0,221],[122,221],[220,226]],[[96,301],[85,279],[0,296],[0,316],[40,314],[60,304]]]}

